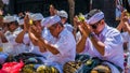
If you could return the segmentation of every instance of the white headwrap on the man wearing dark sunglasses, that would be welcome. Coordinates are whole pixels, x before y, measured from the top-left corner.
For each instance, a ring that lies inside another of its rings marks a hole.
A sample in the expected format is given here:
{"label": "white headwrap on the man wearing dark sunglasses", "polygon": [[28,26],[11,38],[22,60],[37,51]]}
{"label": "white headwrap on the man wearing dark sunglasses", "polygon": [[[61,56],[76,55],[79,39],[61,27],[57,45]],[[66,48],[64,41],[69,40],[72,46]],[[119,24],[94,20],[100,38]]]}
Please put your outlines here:
{"label": "white headwrap on the man wearing dark sunglasses", "polygon": [[94,14],[92,17],[90,17],[88,20],[87,20],[87,24],[89,25],[93,25],[98,21],[100,21],[101,19],[104,18],[104,13],[103,12],[99,12],[96,14]]}

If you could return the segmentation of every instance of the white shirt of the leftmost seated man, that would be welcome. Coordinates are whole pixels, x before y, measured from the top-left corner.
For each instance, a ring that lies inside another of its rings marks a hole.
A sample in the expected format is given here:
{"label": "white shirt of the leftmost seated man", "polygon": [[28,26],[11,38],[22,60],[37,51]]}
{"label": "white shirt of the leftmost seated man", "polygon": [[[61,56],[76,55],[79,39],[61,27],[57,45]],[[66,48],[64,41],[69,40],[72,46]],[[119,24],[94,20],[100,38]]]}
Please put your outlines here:
{"label": "white shirt of the leftmost seated man", "polygon": [[24,53],[26,50],[24,44],[15,42],[15,39],[21,31],[22,30],[20,30],[20,28],[17,28],[13,32],[10,32],[10,31],[5,32],[4,35],[9,42],[3,44],[4,53],[11,54],[11,55],[17,55],[17,54]]}

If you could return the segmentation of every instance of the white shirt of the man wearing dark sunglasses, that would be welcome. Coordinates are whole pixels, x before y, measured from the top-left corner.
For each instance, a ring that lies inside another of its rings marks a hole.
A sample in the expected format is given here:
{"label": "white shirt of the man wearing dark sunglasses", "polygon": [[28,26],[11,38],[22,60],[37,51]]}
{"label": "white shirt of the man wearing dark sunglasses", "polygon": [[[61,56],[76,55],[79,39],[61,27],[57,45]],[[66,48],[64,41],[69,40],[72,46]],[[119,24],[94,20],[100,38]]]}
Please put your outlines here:
{"label": "white shirt of the man wearing dark sunglasses", "polygon": [[86,48],[83,53],[89,53],[92,57],[99,57],[102,60],[110,61],[123,69],[123,48],[122,38],[118,30],[105,26],[98,39],[105,44],[105,55],[102,56],[87,39]]}

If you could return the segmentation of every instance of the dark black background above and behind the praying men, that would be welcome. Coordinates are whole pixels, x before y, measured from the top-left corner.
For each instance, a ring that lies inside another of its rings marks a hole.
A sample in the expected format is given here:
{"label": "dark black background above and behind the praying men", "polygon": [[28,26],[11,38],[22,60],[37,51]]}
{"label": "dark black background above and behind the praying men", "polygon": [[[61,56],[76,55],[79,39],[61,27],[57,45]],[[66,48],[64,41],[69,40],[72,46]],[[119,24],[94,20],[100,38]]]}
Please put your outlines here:
{"label": "dark black background above and behind the praying men", "polygon": [[[126,0],[123,0],[123,3]],[[49,5],[53,4],[57,10],[65,10],[68,13],[67,0],[10,0],[5,13],[18,14],[20,12],[29,11],[32,13],[40,12],[43,16],[49,16]],[[123,4],[126,6],[127,4]],[[106,23],[116,27],[119,21],[115,19],[115,0],[93,0],[92,9],[100,9],[105,14]],[[128,8],[129,9],[129,8]],[[75,15],[87,14],[90,11],[90,0],[75,0]]]}

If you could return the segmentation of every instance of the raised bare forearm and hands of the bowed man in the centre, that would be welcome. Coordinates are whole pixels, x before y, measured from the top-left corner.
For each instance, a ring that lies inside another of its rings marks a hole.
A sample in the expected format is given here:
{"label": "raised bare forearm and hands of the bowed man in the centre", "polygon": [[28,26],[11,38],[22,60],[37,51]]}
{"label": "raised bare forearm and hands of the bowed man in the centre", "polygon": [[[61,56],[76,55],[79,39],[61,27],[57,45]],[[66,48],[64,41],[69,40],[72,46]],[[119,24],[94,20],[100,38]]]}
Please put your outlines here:
{"label": "raised bare forearm and hands of the bowed man in the centre", "polygon": [[36,30],[37,28],[35,26],[30,27],[29,34],[31,34],[31,38],[36,41],[36,44],[40,47],[40,50],[46,48],[54,55],[58,54],[60,52],[57,48],[42,39],[41,34]]}

